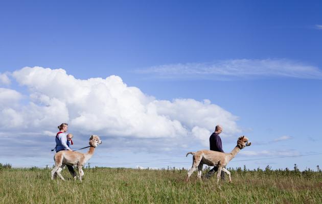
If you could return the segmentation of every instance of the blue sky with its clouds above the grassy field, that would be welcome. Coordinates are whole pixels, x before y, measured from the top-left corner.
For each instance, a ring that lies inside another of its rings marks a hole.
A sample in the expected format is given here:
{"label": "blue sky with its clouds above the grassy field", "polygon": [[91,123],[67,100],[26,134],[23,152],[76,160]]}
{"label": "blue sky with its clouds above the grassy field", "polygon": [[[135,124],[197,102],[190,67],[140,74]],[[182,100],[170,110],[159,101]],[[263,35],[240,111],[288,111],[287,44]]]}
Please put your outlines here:
{"label": "blue sky with its clouds above the grassy field", "polygon": [[322,153],[321,9],[319,1],[3,1],[0,162],[51,165],[52,134],[68,122],[75,148],[102,137],[94,166],[189,168],[186,152],[208,148],[220,123],[226,152],[240,135],[253,142],[229,167],[315,168],[320,155],[269,158]]}

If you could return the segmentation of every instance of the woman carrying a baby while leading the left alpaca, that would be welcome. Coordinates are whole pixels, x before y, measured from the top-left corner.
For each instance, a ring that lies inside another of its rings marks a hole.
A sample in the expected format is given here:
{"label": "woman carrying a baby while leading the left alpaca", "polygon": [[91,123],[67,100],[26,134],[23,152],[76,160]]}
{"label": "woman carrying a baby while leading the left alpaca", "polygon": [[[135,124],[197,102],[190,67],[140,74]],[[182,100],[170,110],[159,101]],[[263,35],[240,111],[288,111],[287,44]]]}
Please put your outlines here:
{"label": "woman carrying a baby while leading the left alpaca", "polygon": [[[68,147],[67,143],[67,130],[68,130],[68,124],[67,123],[61,123],[61,125],[58,126],[59,132],[56,134],[56,153],[58,151],[62,150],[69,150],[72,151],[70,147]],[[72,176],[76,177],[76,172],[74,171],[73,166],[66,165],[68,168],[68,171],[72,174]]]}

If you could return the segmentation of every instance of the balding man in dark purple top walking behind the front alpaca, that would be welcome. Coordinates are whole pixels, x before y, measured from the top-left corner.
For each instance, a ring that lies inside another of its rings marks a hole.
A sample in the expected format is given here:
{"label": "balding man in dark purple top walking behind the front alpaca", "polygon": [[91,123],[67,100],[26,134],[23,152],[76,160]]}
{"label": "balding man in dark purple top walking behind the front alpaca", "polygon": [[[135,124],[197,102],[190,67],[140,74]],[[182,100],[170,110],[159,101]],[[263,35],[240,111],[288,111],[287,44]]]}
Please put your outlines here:
{"label": "balding man in dark purple top walking behind the front alpaca", "polygon": [[[219,137],[219,134],[221,132],[222,132],[222,127],[220,125],[217,125],[215,127],[215,132],[209,138],[210,150],[224,152],[222,150],[221,138]],[[217,170],[218,170],[218,167],[215,166],[213,169],[208,171],[208,173],[204,175],[205,179],[209,179],[212,175],[215,174]],[[220,175],[221,175],[221,179],[225,180],[225,174],[223,171],[221,171]]]}

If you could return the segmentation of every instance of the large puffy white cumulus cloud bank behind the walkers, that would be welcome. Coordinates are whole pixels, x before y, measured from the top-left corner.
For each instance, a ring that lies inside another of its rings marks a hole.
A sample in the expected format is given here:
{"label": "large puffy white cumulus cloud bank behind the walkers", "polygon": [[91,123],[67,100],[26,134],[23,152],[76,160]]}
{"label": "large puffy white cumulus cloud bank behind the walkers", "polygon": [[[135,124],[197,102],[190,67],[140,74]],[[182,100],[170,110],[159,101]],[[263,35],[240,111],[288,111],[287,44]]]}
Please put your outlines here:
{"label": "large puffy white cumulus cloud bank behind the walkers", "polygon": [[[83,134],[200,141],[208,141],[218,123],[225,128],[223,136],[240,132],[238,117],[210,100],[158,100],[127,86],[116,75],[80,80],[63,69],[25,67],[12,76],[30,92],[28,104],[10,110],[5,106],[0,113],[16,130],[37,128],[52,136],[58,124],[68,122]],[[13,93],[16,100],[21,97]]]}

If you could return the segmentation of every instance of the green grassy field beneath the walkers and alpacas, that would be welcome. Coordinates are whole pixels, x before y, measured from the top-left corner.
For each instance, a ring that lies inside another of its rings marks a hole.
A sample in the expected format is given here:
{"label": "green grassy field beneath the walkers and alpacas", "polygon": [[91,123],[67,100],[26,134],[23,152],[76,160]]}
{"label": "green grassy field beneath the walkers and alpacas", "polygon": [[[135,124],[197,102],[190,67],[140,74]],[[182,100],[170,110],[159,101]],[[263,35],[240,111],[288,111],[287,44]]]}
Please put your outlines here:
{"label": "green grassy field beneath the walkers and alpacas", "polygon": [[51,169],[0,170],[0,203],[322,203],[322,173],[234,169],[233,183],[186,183],[186,170],[87,168],[83,181]]}

